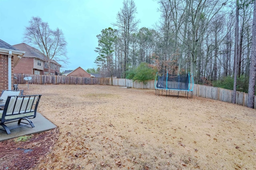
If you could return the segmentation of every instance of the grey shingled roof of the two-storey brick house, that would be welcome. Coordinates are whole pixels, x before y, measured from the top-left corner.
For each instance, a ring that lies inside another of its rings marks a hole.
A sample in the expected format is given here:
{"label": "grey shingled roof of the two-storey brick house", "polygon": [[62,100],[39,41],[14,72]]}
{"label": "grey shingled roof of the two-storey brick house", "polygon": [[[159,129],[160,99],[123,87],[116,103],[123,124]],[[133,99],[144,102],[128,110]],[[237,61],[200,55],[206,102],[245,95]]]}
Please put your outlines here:
{"label": "grey shingled roof of the two-storey brick house", "polygon": [[[20,43],[13,45],[15,48],[20,49],[22,51],[26,51],[25,55],[23,57],[31,57],[31,58],[38,58],[42,61],[47,61],[46,56],[39,51],[38,49],[31,47],[30,45],[27,45],[26,43]],[[56,65],[60,65],[56,61],[52,60],[51,63],[54,63]]]}

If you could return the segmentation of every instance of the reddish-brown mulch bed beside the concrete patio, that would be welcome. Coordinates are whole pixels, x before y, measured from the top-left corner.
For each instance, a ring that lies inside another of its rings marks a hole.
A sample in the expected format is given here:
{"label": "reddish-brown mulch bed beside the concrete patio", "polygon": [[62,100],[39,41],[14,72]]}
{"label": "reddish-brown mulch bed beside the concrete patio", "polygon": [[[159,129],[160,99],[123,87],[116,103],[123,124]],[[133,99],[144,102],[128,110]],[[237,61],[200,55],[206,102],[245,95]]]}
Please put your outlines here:
{"label": "reddish-brown mulch bed beside the concrete patio", "polygon": [[26,142],[16,143],[15,139],[0,142],[1,170],[30,170],[34,168],[54,147],[59,137],[59,129],[55,128],[31,136]]}

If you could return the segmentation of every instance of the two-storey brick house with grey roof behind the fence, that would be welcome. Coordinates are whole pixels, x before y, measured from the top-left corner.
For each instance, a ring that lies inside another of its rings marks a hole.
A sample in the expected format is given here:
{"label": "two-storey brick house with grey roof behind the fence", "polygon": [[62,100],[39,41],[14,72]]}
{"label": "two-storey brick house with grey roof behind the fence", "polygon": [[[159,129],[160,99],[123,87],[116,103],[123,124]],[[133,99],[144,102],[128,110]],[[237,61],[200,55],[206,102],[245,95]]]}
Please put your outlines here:
{"label": "two-storey brick house with grey roof behind the fence", "polygon": [[[15,73],[23,74],[49,74],[49,63],[47,57],[38,49],[25,43],[13,45],[16,49],[25,51],[25,55],[20,62],[14,67]],[[56,61],[50,62],[50,75],[58,75],[61,65]]]}

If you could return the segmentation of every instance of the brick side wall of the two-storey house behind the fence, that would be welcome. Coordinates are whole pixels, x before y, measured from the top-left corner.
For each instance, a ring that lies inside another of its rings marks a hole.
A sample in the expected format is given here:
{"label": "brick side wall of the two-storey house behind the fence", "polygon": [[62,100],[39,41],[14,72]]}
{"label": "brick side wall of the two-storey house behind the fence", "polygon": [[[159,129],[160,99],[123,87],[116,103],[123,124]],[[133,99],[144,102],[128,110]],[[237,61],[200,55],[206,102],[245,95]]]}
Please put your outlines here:
{"label": "brick side wall of the two-storey house behind the fence", "polygon": [[13,73],[33,74],[32,66],[34,66],[33,58],[22,58],[19,63],[14,67]]}

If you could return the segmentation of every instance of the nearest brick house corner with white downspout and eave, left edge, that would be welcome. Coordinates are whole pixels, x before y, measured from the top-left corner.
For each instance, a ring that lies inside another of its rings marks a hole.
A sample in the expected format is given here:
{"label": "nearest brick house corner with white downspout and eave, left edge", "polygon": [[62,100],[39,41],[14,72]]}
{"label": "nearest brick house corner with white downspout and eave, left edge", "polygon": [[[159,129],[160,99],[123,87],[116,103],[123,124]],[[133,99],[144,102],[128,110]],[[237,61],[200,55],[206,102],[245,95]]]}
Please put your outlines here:
{"label": "nearest brick house corner with white downspout and eave, left edge", "polygon": [[20,51],[0,39],[0,92],[12,90],[13,68],[24,54],[24,51]]}

